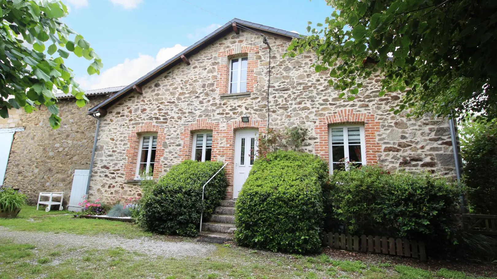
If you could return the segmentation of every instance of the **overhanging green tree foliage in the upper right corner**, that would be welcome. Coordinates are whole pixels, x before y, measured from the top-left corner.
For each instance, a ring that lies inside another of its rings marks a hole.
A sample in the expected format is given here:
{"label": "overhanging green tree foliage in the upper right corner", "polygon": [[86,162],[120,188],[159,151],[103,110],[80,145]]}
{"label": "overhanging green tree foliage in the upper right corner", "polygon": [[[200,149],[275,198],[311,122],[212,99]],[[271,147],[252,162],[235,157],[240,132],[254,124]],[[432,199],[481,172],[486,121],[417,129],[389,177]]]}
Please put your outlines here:
{"label": "overhanging green tree foliage in the upper right corner", "polygon": [[327,0],[335,10],[285,56],[315,51],[316,71],[349,100],[381,74],[380,96],[408,89],[395,113],[497,115],[497,1]]}

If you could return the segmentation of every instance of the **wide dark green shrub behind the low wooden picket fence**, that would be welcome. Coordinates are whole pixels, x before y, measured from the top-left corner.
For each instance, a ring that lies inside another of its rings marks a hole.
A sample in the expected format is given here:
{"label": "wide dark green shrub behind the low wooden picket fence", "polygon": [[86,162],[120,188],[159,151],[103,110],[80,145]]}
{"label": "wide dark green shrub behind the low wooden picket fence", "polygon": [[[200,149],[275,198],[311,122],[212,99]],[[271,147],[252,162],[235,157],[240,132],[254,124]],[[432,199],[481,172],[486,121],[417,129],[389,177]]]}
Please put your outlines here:
{"label": "wide dark green shrub behind the low wooden picket fence", "polygon": [[453,237],[461,189],[427,173],[389,172],[377,166],[331,176],[332,231],[415,240]]}

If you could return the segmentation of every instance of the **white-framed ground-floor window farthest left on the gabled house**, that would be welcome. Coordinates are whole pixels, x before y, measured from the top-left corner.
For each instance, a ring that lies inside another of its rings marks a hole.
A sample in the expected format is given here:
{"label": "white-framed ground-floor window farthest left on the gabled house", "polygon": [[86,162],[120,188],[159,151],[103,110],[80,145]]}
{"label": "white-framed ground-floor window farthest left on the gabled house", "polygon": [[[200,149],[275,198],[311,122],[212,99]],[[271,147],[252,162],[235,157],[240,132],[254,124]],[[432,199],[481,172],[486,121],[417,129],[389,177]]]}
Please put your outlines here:
{"label": "white-framed ground-floor window farthest left on the gabled house", "polygon": [[136,177],[152,177],[157,150],[157,135],[142,135]]}

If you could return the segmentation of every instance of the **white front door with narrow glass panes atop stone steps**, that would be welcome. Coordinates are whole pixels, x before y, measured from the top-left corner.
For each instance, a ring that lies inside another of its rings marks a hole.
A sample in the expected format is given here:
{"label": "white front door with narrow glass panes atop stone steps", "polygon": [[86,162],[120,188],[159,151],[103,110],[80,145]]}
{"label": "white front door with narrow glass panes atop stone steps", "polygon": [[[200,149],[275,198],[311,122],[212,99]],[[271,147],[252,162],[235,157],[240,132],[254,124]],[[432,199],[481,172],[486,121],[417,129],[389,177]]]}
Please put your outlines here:
{"label": "white front door with narrow glass panes atop stone steps", "polygon": [[247,180],[253,160],[257,156],[258,130],[240,130],[235,134],[235,181],[233,198],[238,198],[242,186]]}

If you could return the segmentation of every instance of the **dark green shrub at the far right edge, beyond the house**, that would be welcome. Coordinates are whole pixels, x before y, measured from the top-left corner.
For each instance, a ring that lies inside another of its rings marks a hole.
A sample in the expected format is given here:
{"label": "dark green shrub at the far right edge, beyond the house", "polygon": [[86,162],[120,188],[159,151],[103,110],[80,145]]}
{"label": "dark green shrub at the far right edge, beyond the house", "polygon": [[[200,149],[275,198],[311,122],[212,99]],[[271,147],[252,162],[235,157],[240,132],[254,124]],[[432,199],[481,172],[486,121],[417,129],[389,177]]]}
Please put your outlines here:
{"label": "dark green shrub at the far right edge, beyond the house", "polygon": [[497,214],[497,130],[475,134],[462,154],[472,213]]}

